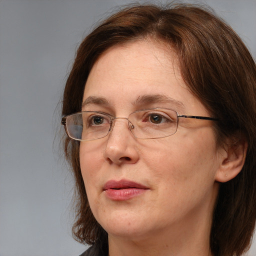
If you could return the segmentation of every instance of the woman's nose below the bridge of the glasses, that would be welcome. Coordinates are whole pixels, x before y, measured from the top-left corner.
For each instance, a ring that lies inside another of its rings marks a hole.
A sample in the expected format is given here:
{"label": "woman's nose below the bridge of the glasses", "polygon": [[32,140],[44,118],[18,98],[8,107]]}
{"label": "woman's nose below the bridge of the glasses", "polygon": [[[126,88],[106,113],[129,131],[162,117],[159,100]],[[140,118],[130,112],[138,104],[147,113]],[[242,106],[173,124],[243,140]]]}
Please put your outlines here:
{"label": "woman's nose below the bridge of the glasses", "polygon": [[[122,120],[116,120],[122,119]],[[137,162],[139,155],[136,138],[132,135],[128,118],[115,117],[108,134],[107,144],[103,152],[109,163],[121,165],[123,163]]]}

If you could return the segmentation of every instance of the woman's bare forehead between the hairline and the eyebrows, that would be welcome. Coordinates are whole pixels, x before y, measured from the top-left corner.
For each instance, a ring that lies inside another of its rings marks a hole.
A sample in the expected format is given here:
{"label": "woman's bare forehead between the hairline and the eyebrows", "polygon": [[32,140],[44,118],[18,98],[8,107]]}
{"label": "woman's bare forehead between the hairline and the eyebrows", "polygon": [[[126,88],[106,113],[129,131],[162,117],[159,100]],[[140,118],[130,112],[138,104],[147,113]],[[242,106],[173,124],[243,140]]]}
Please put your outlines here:
{"label": "woman's bare forehead between the hairline and the eyebrows", "polygon": [[86,81],[83,101],[100,97],[115,107],[127,107],[145,95],[168,97],[180,105],[198,101],[180,75],[174,52],[163,44],[140,40],[113,46],[98,58]]}

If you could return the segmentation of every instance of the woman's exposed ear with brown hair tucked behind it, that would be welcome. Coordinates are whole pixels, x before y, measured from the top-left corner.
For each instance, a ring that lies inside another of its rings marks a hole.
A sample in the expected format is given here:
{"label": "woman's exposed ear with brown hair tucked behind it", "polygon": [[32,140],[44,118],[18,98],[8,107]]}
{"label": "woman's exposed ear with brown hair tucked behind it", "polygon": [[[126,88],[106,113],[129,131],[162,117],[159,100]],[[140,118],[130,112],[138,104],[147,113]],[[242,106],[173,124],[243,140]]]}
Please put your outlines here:
{"label": "woman's exposed ear with brown hair tucked behind it", "polygon": [[220,165],[215,174],[216,181],[229,181],[241,171],[247,147],[248,143],[245,139],[240,139],[236,143],[225,144],[224,148],[220,150]]}

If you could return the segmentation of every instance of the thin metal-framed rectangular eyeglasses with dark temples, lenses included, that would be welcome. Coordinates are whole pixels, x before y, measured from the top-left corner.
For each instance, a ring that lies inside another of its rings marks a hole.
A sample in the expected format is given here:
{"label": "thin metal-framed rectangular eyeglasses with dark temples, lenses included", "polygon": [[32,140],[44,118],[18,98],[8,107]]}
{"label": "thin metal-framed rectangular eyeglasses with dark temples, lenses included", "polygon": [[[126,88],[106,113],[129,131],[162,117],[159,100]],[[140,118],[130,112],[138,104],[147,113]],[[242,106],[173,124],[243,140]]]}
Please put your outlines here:
{"label": "thin metal-framed rectangular eyeglasses with dark temples, lenses included", "polygon": [[216,121],[207,116],[180,115],[169,108],[137,110],[128,117],[114,117],[98,111],[82,111],[64,116],[61,124],[67,135],[75,140],[87,141],[105,137],[113,128],[115,119],[126,119],[131,133],[140,139],[163,138],[174,134],[178,118],[194,118]]}

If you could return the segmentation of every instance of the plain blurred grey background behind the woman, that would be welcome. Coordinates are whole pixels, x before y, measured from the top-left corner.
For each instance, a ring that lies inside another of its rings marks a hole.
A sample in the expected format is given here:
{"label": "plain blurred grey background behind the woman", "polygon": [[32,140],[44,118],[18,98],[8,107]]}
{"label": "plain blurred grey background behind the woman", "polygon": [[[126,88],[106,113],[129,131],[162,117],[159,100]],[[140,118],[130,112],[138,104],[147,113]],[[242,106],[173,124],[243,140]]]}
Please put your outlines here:
{"label": "plain blurred grey background behind the woman", "polygon": [[[72,177],[59,150],[57,103],[78,43],[113,6],[129,2],[0,0],[0,256],[85,249],[71,237]],[[213,7],[255,59],[256,0],[187,2]]]}

